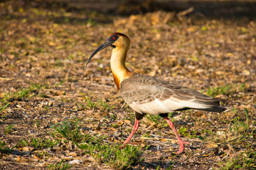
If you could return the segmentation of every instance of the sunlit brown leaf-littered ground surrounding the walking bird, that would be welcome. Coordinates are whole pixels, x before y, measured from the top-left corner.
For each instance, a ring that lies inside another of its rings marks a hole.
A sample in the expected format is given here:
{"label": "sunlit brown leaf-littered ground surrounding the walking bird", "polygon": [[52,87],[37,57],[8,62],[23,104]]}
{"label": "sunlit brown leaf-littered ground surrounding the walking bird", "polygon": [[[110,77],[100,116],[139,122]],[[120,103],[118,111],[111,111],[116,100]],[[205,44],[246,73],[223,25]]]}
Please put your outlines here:
{"label": "sunlit brown leaf-littered ground surrounding the walking bird", "polygon": [[[230,17],[231,10],[208,17],[195,8],[145,11],[150,1],[132,7],[105,3],[109,11],[66,2],[0,2],[0,169],[58,169],[61,160],[80,160],[70,169],[110,169],[57,131],[66,123],[113,146],[131,132],[134,113],[114,84],[111,47],[85,69],[87,58],[113,32],[132,41],[128,69],[220,98],[227,108],[170,113],[190,142],[181,154],[175,154],[178,142],[164,120],[146,116],[129,144],[149,147],[132,169],[256,169],[252,16]],[[127,14],[129,7],[136,14]],[[34,139],[58,144],[35,147]]]}

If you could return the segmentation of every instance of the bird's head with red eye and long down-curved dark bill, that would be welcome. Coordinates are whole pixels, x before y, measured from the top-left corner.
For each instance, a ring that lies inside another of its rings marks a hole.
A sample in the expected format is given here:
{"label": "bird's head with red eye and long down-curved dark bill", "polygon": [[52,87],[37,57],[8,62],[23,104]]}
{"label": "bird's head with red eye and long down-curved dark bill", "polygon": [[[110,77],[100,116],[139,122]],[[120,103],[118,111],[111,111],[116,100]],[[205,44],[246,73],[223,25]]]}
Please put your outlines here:
{"label": "bird's head with red eye and long down-curved dark bill", "polygon": [[100,45],[100,47],[97,47],[97,49],[92,52],[92,55],[88,58],[85,68],[87,67],[88,62],[92,59],[93,56],[97,54],[100,50],[103,50],[105,47],[113,47],[115,50],[128,50],[131,45],[131,41],[127,37],[127,35],[124,35],[122,33],[112,33],[108,36],[107,40]]}

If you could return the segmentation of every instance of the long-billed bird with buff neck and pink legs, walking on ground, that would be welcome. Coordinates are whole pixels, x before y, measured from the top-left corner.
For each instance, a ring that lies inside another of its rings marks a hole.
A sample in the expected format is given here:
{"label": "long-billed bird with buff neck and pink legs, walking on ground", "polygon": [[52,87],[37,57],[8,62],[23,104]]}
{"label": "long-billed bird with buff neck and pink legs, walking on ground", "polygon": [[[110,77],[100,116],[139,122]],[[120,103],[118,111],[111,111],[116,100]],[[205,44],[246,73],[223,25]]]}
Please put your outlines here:
{"label": "long-billed bird with buff neck and pink legs, walking on ground", "polygon": [[110,57],[110,67],[114,77],[114,82],[119,89],[125,103],[135,112],[135,123],[127,140],[120,148],[126,147],[133,135],[139,128],[139,120],[144,115],[160,115],[169,124],[174,131],[180,145],[178,152],[183,152],[184,142],[178,135],[174,123],[168,118],[169,113],[174,111],[185,111],[195,109],[209,112],[222,112],[226,108],[220,106],[220,100],[199,93],[193,89],[176,84],[170,84],[168,81],[150,77],[144,74],[132,72],[125,66],[127,52],[131,46],[131,40],[123,33],[111,33],[107,40],[92,52],[87,59],[85,68],[93,56],[106,47],[112,47]]}

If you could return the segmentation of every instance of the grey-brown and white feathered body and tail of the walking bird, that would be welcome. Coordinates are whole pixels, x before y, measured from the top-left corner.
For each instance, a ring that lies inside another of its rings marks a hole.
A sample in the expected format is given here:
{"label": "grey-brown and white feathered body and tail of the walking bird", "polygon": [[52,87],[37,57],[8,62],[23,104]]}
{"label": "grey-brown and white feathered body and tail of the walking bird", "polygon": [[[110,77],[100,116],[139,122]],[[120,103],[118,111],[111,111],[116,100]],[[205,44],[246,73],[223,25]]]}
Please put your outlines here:
{"label": "grey-brown and white feathered body and tail of the walking bird", "polygon": [[159,115],[188,108],[220,112],[220,101],[183,86],[149,77],[132,74],[120,87],[124,101],[138,113]]}

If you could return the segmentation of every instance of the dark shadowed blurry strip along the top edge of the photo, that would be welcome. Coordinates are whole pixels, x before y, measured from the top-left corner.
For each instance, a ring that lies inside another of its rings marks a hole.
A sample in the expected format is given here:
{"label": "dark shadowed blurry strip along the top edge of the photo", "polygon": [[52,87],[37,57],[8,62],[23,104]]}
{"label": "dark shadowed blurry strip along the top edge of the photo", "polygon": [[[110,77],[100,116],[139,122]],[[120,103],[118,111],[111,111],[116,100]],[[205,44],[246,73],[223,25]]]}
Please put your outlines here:
{"label": "dark shadowed blurry strip along the top edge of the photo", "polygon": [[186,11],[186,14],[206,18],[242,18],[255,19],[255,0],[24,0],[4,1],[9,10],[21,6],[34,8],[65,8],[67,11],[97,11],[105,15],[129,16],[152,11]]}

